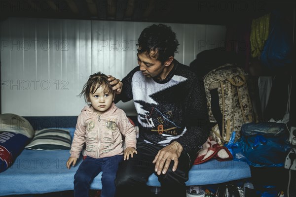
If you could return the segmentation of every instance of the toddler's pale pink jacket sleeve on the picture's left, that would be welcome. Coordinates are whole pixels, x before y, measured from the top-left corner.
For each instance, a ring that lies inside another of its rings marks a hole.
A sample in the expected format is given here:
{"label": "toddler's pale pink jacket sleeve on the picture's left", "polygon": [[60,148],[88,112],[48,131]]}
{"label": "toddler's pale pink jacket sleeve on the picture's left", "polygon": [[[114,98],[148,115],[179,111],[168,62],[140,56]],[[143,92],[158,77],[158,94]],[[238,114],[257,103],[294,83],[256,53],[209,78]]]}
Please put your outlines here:
{"label": "toddler's pale pink jacket sleeve on the picture's left", "polygon": [[86,126],[84,124],[84,115],[82,112],[77,119],[76,129],[74,132],[74,138],[71,145],[71,157],[79,158],[80,152],[83,148],[83,144],[85,143],[85,133],[86,133]]}

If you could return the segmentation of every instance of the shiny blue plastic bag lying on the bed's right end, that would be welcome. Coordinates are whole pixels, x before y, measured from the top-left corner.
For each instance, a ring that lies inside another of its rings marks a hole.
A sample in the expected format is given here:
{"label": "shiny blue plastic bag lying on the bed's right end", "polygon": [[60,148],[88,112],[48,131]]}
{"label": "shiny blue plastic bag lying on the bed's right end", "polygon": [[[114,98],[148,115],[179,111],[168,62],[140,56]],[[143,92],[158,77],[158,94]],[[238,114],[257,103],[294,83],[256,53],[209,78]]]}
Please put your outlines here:
{"label": "shiny blue plastic bag lying on the bed's right end", "polygon": [[281,123],[247,123],[241,138],[231,146],[233,160],[255,167],[283,166],[291,147],[288,133]]}

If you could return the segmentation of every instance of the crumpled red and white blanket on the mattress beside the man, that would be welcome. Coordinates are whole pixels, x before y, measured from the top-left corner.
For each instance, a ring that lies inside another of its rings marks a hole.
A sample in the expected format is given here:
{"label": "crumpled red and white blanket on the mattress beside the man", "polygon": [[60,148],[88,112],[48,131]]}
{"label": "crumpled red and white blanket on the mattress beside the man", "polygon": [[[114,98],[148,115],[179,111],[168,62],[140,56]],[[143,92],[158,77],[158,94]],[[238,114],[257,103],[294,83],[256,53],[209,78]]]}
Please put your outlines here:
{"label": "crumpled red and white blanket on the mattress beside the man", "polygon": [[202,145],[202,149],[198,151],[194,165],[205,163],[212,158],[215,158],[220,162],[233,159],[231,153],[225,146],[220,146],[216,141],[208,138]]}

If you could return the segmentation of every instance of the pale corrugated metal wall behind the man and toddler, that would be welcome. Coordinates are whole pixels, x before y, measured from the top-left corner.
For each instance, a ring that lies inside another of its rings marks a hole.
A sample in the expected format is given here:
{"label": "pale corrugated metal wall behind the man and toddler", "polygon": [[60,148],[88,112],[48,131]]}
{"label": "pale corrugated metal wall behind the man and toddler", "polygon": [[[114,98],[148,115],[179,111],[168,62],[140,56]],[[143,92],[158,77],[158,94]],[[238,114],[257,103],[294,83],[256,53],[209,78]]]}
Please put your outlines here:
{"label": "pale corrugated metal wall behind the man and toddler", "polygon": [[[90,74],[122,79],[137,66],[144,22],[9,18],[0,24],[1,109],[21,116],[76,116],[76,97]],[[177,33],[175,58],[189,65],[199,52],[224,46],[226,28],[167,24]],[[118,103],[136,115],[133,102]]]}

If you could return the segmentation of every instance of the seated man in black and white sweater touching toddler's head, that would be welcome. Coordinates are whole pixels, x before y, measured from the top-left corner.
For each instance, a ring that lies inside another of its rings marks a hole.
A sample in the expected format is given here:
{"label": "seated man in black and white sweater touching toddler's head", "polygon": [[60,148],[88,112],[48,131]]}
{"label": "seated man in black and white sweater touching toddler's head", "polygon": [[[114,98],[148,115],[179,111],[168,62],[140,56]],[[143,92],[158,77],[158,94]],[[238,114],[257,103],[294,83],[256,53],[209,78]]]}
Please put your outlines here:
{"label": "seated man in black and white sweater touching toddler's head", "polygon": [[153,172],[162,196],[186,196],[188,171],[209,129],[203,80],[174,59],[178,45],[170,27],[152,25],[138,39],[139,66],[122,83],[109,78],[120,93],[115,102],[134,100],[140,129],[138,154],[119,166],[117,196],[148,196]]}

